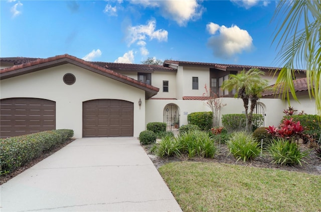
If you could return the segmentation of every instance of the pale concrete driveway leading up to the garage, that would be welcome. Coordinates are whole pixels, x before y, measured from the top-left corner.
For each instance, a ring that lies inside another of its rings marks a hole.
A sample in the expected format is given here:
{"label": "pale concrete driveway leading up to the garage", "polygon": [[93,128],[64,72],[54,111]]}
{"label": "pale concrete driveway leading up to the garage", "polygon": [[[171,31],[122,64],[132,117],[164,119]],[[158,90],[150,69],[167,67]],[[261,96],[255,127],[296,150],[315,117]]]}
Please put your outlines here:
{"label": "pale concrete driveway leading up to the garage", "polygon": [[76,139],[1,185],[1,211],[182,211],[133,137]]}

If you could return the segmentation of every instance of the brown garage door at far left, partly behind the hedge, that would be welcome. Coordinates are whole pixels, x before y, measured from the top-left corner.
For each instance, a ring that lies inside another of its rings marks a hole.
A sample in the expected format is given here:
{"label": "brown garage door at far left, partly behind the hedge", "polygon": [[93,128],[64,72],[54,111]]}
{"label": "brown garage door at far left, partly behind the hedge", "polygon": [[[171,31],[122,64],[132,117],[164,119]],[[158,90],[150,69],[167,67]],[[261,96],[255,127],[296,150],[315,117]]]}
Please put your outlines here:
{"label": "brown garage door at far left, partly behind the hedge", "polygon": [[10,98],[2,99],[0,104],[2,138],[56,129],[56,102]]}

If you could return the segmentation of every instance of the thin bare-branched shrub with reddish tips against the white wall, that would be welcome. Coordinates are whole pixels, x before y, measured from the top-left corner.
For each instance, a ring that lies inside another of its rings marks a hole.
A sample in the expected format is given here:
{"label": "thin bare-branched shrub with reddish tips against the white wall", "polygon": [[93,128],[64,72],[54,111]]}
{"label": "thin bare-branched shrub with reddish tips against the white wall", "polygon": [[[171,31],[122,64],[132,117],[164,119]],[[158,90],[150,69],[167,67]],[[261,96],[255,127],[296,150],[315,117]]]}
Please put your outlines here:
{"label": "thin bare-branched shrub with reddish tips against the white wall", "polygon": [[223,104],[223,98],[218,97],[212,89],[208,89],[206,84],[204,88],[205,93],[203,93],[203,96],[208,97],[206,100],[206,106],[208,106],[213,112],[213,127],[218,127],[220,124],[221,109],[226,106],[226,104]]}

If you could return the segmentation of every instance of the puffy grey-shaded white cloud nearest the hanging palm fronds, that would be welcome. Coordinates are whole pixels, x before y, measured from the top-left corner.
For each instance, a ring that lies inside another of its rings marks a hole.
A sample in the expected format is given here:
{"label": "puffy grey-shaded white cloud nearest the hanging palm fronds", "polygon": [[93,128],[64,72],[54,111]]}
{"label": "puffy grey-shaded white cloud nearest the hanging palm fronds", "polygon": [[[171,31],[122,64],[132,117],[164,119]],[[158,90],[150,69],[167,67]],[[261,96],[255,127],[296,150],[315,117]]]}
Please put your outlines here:
{"label": "puffy grey-shaded white cloud nearest the hanging palm fronds", "polygon": [[213,49],[213,54],[216,57],[229,59],[243,51],[250,51],[253,47],[253,39],[250,34],[236,25],[232,25],[230,28],[221,26],[218,31],[218,35],[213,34],[214,36],[208,40],[208,46]]}

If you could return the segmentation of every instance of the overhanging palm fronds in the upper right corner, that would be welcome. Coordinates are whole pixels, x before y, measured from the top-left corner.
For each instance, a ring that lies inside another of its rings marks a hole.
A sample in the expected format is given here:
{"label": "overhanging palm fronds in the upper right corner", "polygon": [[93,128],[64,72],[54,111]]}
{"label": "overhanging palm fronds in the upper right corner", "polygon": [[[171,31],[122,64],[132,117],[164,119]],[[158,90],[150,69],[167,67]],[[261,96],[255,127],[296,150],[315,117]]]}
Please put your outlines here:
{"label": "overhanging palm fronds in the upper right corner", "polygon": [[289,91],[297,100],[292,81],[294,66],[306,69],[309,95],[315,98],[321,116],[321,1],[280,1],[274,14],[277,17],[282,21],[277,20],[280,24],[273,42],[279,40],[278,57],[283,68],[275,89],[283,91],[283,99],[287,97],[289,104]]}

